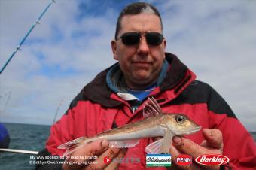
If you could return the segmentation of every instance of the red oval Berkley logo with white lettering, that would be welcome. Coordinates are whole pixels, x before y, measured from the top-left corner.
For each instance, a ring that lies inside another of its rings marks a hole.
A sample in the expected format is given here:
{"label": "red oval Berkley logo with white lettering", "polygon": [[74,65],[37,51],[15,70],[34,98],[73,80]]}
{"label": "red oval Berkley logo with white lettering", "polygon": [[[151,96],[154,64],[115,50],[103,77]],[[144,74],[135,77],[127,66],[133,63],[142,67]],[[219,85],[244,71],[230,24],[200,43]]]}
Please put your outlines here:
{"label": "red oval Berkley logo with white lettering", "polygon": [[198,156],[195,161],[201,165],[224,165],[230,162],[230,159],[223,155],[209,154]]}

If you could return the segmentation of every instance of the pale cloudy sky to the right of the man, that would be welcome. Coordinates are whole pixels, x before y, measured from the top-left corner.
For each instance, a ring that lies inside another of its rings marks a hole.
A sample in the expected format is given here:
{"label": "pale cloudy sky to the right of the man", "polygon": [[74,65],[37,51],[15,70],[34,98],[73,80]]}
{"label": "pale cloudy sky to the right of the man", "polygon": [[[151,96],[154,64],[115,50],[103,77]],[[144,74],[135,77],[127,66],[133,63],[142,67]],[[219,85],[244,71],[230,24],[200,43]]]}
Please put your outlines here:
{"label": "pale cloudy sky to the right of the man", "polygon": [[255,2],[160,2],[167,49],[209,83],[255,130]]}

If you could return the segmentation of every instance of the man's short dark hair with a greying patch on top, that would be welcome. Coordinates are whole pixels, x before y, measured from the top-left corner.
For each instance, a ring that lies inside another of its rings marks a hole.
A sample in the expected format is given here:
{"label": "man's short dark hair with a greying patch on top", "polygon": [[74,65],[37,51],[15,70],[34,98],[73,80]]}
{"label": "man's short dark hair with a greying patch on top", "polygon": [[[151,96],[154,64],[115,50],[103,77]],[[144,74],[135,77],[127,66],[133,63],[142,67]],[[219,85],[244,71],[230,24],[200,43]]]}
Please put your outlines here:
{"label": "man's short dark hair with a greying patch on top", "polygon": [[146,2],[135,2],[133,4],[126,6],[126,8],[123,8],[123,10],[120,12],[119,17],[117,19],[117,27],[115,30],[114,38],[117,40],[117,35],[121,29],[121,20],[123,16],[142,14],[145,13],[147,10],[152,11],[153,14],[157,15],[160,18],[161,29],[163,30],[162,19],[160,17],[160,13],[157,11],[157,8]]}

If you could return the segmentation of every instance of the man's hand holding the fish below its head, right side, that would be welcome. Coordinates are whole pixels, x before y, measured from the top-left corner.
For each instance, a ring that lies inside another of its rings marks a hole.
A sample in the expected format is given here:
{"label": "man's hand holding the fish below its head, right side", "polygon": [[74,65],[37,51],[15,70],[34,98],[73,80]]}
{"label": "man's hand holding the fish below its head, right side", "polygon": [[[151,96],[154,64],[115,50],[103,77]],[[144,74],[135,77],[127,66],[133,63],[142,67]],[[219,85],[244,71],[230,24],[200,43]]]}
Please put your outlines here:
{"label": "man's hand holding the fish below its head, right side", "polygon": [[[202,144],[196,144],[193,141],[190,141],[184,137],[175,136],[172,140],[172,146],[170,149],[170,153],[172,155],[172,160],[175,160],[176,157],[180,154],[188,154],[193,157],[193,159],[197,158],[197,156],[203,154],[222,154],[223,151],[223,139],[222,133],[218,129],[203,129],[203,136],[206,139],[202,142]],[[186,170],[194,170],[194,169],[209,169],[209,170],[217,170],[220,169],[218,165],[216,166],[203,166],[198,165],[197,163],[193,163],[192,165],[180,166],[177,165],[175,161],[174,168],[186,169]]]}

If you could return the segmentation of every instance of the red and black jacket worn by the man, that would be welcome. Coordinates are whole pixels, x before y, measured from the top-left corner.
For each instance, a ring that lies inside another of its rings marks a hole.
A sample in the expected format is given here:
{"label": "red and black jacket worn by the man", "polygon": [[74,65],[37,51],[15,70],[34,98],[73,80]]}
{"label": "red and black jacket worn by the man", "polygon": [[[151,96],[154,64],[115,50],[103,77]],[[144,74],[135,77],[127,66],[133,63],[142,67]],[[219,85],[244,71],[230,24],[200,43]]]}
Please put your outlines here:
{"label": "red and black jacket worn by the man", "polygon": [[[206,83],[195,80],[195,75],[179,59],[166,53],[169,68],[163,82],[149,96],[157,99],[165,113],[186,114],[202,128],[220,129],[223,134],[223,155],[230,158],[231,169],[255,169],[256,147],[253,138],[237,120],[227,102]],[[69,110],[50,129],[46,147],[41,156],[62,156],[65,150],[58,150],[60,144],[81,136],[91,137],[126,123],[141,120],[142,105],[133,113],[131,103],[126,102],[110,90],[106,75],[111,69],[99,73],[72,101]],[[202,131],[188,135],[192,141],[201,144]],[[120,169],[144,169],[145,147],[151,139],[142,139],[136,147],[130,148],[127,158],[139,158],[138,163],[123,163]],[[62,160],[63,161],[63,160]],[[38,169],[61,169],[62,164],[38,165]],[[156,168],[154,168],[156,169]],[[165,169],[165,168],[157,168]]]}

